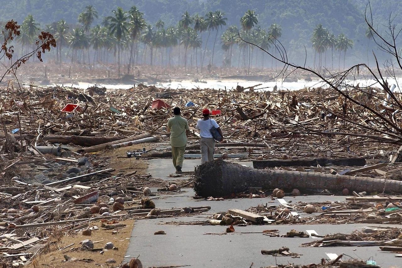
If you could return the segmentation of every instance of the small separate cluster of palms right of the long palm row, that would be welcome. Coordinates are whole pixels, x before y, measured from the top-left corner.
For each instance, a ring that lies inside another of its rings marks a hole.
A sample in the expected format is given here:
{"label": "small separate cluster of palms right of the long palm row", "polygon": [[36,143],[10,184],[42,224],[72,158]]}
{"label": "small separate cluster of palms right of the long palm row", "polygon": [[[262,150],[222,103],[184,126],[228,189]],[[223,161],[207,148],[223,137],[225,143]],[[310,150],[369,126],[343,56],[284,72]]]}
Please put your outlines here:
{"label": "small separate cluster of palms right of the long palm row", "polygon": [[[322,54],[325,53],[325,64],[326,65],[326,51],[331,49],[331,63],[332,69],[334,68],[334,48],[339,51],[339,62],[338,68],[340,68],[340,54],[343,54],[343,68],[345,68],[345,57],[346,51],[353,47],[353,40],[347,38],[343,33],[340,33],[337,37],[334,33],[329,33],[327,29],[322,27],[322,24],[318,24],[314,29],[311,41],[313,43],[313,48],[318,53],[318,68],[321,70],[322,66]],[[314,66],[316,65],[316,54],[314,55]]]}

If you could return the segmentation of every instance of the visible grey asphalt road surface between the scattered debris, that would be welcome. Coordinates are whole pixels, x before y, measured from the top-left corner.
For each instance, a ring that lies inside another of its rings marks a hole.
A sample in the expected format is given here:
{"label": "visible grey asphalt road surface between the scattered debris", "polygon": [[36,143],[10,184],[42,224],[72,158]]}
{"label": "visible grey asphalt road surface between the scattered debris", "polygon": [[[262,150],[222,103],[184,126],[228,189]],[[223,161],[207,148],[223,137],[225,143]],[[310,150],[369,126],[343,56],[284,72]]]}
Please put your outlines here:
{"label": "visible grey asphalt road surface between the scattered debris", "polygon": [[[170,159],[154,159],[150,161],[149,172],[154,177],[168,177],[174,172]],[[184,171],[191,170],[199,159],[186,160]],[[188,164],[188,165],[187,165]],[[244,163],[242,163],[244,164]],[[271,198],[233,199],[225,201],[205,201],[192,199],[192,189],[183,189],[178,194],[163,195],[156,199],[158,208],[179,208],[184,206],[211,206],[205,215],[183,216],[165,219],[146,219],[136,221],[131,234],[131,242],[127,249],[126,260],[140,255],[144,267],[191,266],[191,267],[265,267],[275,264],[310,264],[319,263],[327,258],[326,253],[347,254],[351,258],[368,260],[373,258],[381,267],[402,267],[402,259],[395,254],[381,252],[374,247],[302,247],[302,243],[314,238],[269,237],[261,232],[266,229],[277,229],[283,235],[291,229],[297,231],[315,230],[319,235],[331,233],[351,233],[361,230],[367,224],[347,225],[254,225],[235,226],[235,232],[225,234],[226,227],[211,225],[178,225],[174,222],[205,221],[211,214],[226,211],[229,208],[247,209],[250,206],[265,204]],[[287,201],[300,200],[310,202],[344,201],[343,196],[300,196],[285,197]],[[277,200],[275,200],[277,202]],[[279,206],[279,202],[276,203]],[[209,214],[210,213],[210,214]],[[370,225],[381,226],[381,225]],[[402,225],[392,225],[402,227]],[[163,230],[166,235],[154,235]],[[300,258],[273,257],[261,254],[261,249],[278,249],[287,246],[290,252],[302,254]],[[344,259],[347,257],[344,257]]]}

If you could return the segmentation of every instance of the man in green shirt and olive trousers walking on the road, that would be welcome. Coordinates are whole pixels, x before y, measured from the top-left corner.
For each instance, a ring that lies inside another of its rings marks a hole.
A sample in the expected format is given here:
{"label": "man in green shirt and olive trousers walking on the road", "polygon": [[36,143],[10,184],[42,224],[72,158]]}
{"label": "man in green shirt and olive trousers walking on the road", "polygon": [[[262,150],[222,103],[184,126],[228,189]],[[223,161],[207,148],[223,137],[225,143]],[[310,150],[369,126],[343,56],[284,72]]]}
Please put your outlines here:
{"label": "man in green shirt and olive trousers walking on the road", "polygon": [[170,132],[170,145],[172,146],[172,159],[176,171],[181,172],[183,167],[184,151],[186,150],[187,135],[189,134],[189,123],[180,116],[180,108],[173,109],[174,117],[168,121],[168,132]]}

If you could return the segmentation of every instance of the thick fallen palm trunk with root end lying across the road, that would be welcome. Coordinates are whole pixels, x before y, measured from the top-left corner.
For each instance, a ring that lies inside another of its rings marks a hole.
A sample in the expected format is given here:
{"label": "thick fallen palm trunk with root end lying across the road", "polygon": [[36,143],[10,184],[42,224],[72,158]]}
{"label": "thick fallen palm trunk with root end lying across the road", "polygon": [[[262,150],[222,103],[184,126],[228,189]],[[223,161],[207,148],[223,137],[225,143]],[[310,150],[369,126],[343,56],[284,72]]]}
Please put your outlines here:
{"label": "thick fallen palm trunk with root end lying across the road", "polygon": [[260,170],[217,159],[197,167],[194,190],[198,196],[228,196],[250,187],[263,189],[328,189],[402,194],[402,181],[331,175],[314,172]]}

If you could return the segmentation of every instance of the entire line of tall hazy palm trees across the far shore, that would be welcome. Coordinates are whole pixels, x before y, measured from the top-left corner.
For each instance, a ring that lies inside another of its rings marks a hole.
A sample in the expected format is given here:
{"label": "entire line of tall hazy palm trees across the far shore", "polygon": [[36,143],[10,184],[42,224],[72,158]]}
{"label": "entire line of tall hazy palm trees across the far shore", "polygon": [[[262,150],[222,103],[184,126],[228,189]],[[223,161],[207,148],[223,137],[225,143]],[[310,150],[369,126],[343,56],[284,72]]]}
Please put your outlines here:
{"label": "entire line of tall hazy palm trees across the far shore", "polygon": [[[98,18],[98,12],[93,6],[86,6],[86,9],[78,16],[80,27],[75,27],[70,31],[69,25],[64,20],[46,25],[44,30],[52,33],[57,41],[56,62],[61,63],[62,60],[66,60],[66,57],[71,58],[72,62],[85,63],[88,59],[88,64],[91,66],[95,62],[109,62],[109,55],[112,54],[119,66],[119,75],[121,74],[122,58],[124,58],[124,64],[127,64],[127,73],[131,71],[134,64],[144,62],[150,65],[155,64],[156,58],[159,65],[171,65],[172,60],[174,60],[175,64],[184,65],[186,69],[187,64],[191,65],[190,68],[195,66],[198,72],[199,67],[202,70],[205,66],[205,56],[208,54],[208,70],[212,70],[215,63],[215,45],[219,30],[222,30],[227,21],[225,13],[219,10],[208,12],[205,16],[191,15],[186,11],[175,27],[165,28],[165,23],[162,20],[157,21],[154,26],[147,24],[144,14],[135,6],[128,11],[119,7],[113,10],[112,14],[112,16],[103,18],[101,25],[95,25],[91,28],[94,20]],[[258,45],[265,51],[272,48],[273,53],[274,51],[276,53],[275,47],[277,40],[282,35],[282,29],[281,25],[276,23],[271,24],[268,30],[262,29],[258,25],[258,15],[254,10],[245,12],[244,16],[240,18],[240,25],[240,30],[236,25],[228,26],[221,35],[220,41],[224,51],[222,65],[233,66],[232,56],[238,52],[238,68],[240,68],[241,62],[241,68],[250,73],[254,49],[256,48],[250,43]],[[19,39],[23,52],[24,49],[27,51],[29,45],[34,43],[35,35],[39,31],[38,27],[39,24],[35,22],[32,15],[25,18]],[[215,33],[215,37],[211,43],[209,37],[213,33]],[[207,36],[205,43],[203,34]],[[318,25],[314,29],[312,42],[313,48],[319,54],[320,66],[322,65],[322,53],[331,47],[331,44],[332,49],[335,47],[335,49],[345,53],[353,44],[343,34],[339,35],[338,39],[332,43],[328,41],[333,39],[335,39],[334,35],[329,35],[322,25]],[[207,49],[207,47],[212,47],[212,50]],[[257,51],[255,65],[257,66],[258,52],[260,51],[260,65],[264,67],[266,53],[260,49],[255,50]],[[189,52],[190,60],[188,59]],[[149,60],[147,60],[148,55]],[[173,58],[172,55],[177,56]],[[271,66],[273,67],[273,59]]]}

